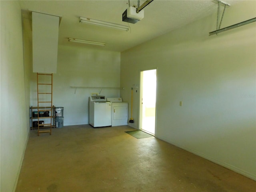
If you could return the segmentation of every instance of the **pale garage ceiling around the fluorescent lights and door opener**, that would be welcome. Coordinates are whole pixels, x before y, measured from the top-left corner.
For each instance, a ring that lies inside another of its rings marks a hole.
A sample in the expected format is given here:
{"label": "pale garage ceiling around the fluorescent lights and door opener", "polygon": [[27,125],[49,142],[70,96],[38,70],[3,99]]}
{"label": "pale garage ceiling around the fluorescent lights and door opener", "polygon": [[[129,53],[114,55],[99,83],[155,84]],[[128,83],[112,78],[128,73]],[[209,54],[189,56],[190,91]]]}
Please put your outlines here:
{"label": "pale garage ceiling around the fluorescent lights and door opener", "polygon": [[[144,1],[140,1],[140,5]],[[235,0],[225,0],[230,4]],[[130,1],[137,6],[136,0]],[[61,16],[59,45],[91,46],[103,50],[124,51],[176,28],[217,13],[214,0],[154,0],[144,10],[144,18],[136,24],[122,22],[128,0],[20,0],[24,29],[31,33],[31,11]],[[80,17],[130,26],[128,32],[82,24]],[[212,24],[213,30],[215,22]],[[68,38],[105,42],[106,46],[68,42]]]}

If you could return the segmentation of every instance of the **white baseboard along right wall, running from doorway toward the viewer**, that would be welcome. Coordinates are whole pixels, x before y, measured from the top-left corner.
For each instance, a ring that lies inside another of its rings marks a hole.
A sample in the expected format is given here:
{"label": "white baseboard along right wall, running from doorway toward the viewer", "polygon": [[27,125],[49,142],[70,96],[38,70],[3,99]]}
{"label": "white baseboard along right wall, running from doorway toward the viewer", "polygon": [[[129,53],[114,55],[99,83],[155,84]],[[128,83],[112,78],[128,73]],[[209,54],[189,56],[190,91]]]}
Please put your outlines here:
{"label": "white baseboard along right wall, running from doorway toward the viewer", "polygon": [[175,142],[172,142],[172,141],[168,140],[167,138],[164,138],[164,137],[163,137],[163,138],[162,138],[162,137],[157,137],[157,138],[160,139],[160,140],[163,140],[163,141],[165,141],[165,142],[168,142],[168,143],[170,143],[170,144],[172,144],[172,145],[174,145],[174,146],[176,146],[176,147],[178,147],[178,148],[182,148],[182,149],[184,149],[184,150],[186,150],[186,151],[188,151],[188,152],[191,152],[191,153],[193,153],[193,154],[195,154],[195,155],[197,155],[197,156],[200,156],[200,157],[202,157],[202,158],[205,158],[205,159],[207,159],[207,160],[209,160],[209,161],[211,161],[211,162],[214,162],[214,163],[216,163],[216,164],[218,164],[218,165],[221,165],[221,166],[223,166],[223,167],[225,167],[225,168],[228,168],[228,169],[230,169],[230,170],[232,170],[232,171],[234,171],[234,172],[237,172],[237,173],[239,173],[239,174],[242,174],[243,176],[246,176],[246,177],[248,177],[248,178],[250,178],[250,179],[256,180],[256,175],[254,175],[254,174],[252,174],[252,173],[250,173],[250,172],[244,171],[244,170],[242,170],[242,169],[240,169],[240,168],[238,168],[238,167],[236,167],[236,166],[233,166],[232,164],[229,164],[229,163],[226,163],[226,162],[222,162],[222,161],[216,160],[216,159],[211,158],[211,157],[209,157],[209,156],[206,156],[206,155],[204,155],[204,154],[202,154],[202,153],[200,153],[200,152],[198,152],[198,151],[195,151],[195,150],[186,148],[186,147],[184,147],[184,146],[182,146],[182,145],[180,145],[180,144],[177,144],[177,143],[175,143]]}

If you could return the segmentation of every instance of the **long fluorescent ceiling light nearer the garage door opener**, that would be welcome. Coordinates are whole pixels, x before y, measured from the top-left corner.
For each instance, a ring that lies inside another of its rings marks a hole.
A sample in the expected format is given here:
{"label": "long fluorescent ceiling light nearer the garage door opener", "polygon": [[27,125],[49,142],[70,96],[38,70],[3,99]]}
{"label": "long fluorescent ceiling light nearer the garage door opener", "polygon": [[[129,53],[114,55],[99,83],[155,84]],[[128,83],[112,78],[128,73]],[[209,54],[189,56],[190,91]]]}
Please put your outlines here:
{"label": "long fluorescent ceiling light nearer the garage door opener", "polygon": [[124,31],[129,30],[129,27],[124,26],[124,25],[118,25],[118,24],[114,24],[114,23],[109,23],[109,22],[104,22],[104,21],[99,21],[99,20],[94,20],[94,19],[89,19],[89,18],[84,18],[84,17],[80,17],[80,22],[85,23],[85,24],[91,24],[91,25],[108,27],[108,28],[113,28],[113,29],[118,29],[118,30],[124,30]]}

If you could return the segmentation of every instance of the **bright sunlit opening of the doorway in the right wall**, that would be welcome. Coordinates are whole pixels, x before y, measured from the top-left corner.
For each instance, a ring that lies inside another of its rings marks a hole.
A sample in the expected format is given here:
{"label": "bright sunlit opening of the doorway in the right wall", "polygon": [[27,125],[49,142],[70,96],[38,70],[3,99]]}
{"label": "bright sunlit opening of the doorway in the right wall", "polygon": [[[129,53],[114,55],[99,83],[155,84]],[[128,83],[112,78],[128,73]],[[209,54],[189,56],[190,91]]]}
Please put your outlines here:
{"label": "bright sunlit opening of the doorway in the right wall", "polygon": [[140,72],[140,129],[155,134],[156,69]]}

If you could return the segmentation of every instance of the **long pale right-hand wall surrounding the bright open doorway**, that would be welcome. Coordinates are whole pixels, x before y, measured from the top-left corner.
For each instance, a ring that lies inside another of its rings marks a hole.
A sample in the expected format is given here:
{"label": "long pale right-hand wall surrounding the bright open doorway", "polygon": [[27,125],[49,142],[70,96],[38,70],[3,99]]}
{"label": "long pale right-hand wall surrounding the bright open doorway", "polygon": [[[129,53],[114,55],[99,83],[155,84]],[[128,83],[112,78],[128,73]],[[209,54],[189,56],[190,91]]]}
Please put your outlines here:
{"label": "long pale right-hand wall surrounding the bright open doorway", "polygon": [[[241,1],[222,27],[255,13]],[[215,27],[216,14],[122,52],[121,86],[157,67],[156,137],[256,180],[256,23],[208,36]],[[138,128],[138,92],[133,110]]]}

